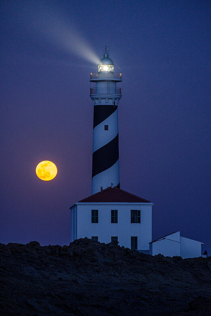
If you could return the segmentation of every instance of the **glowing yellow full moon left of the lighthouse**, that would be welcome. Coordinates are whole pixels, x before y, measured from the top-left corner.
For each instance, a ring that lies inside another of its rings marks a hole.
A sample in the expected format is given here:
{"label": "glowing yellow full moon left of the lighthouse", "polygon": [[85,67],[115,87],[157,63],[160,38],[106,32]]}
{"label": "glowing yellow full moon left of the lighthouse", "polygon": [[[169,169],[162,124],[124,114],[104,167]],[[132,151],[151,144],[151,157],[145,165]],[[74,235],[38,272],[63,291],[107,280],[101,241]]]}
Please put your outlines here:
{"label": "glowing yellow full moon left of the lighthouse", "polygon": [[55,178],[57,173],[56,165],[48,160],[41,161],[36,167],[36,175],[38,178],[48,181]]}

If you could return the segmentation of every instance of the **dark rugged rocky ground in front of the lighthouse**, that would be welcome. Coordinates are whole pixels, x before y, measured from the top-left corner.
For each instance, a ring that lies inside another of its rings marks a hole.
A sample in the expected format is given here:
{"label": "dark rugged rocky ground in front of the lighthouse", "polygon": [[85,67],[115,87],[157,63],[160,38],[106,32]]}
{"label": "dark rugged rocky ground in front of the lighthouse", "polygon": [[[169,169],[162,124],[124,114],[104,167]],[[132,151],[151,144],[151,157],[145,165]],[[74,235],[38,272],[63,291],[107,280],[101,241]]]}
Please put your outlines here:
{"label": "dark rugged rocky ground in front of the lighthouse", "polygon": [[211,258],[90,239],[0,244],[0,315],[210,315]]}

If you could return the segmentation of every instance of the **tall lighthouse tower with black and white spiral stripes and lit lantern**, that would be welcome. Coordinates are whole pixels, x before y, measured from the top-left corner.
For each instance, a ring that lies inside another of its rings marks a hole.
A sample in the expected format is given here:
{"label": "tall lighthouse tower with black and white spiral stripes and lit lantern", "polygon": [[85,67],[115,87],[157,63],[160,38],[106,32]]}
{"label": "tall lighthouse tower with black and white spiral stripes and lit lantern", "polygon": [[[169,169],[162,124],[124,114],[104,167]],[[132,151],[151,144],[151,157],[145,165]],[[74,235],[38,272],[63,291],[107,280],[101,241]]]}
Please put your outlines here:
{"label": "tall lighthouse tower with black and white spiral stripes and lit lantern", "polygon": [[111,183],[119,188],[118,102],[122,74],[114,72],[114,63],[106,50],[98,63],[98,72],[91,72],[90,97],[94,104],[92,194]]}

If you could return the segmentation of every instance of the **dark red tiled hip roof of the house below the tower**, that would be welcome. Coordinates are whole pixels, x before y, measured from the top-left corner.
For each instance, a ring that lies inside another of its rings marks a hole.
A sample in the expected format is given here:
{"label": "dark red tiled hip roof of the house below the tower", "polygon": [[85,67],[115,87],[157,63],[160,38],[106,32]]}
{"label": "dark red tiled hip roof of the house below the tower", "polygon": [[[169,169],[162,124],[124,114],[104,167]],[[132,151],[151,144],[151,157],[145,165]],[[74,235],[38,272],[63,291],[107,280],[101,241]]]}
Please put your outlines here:
{"label": "dark red tiled hip roof of the house below the tower", "polygon": [[125,203],[150,203],[141,197],[137,197],[134,194],[126,192],[122,189],[116,187],[109,187],[103,191],[90,195],[89,197],[80,200],[80,202],[125,202]]}

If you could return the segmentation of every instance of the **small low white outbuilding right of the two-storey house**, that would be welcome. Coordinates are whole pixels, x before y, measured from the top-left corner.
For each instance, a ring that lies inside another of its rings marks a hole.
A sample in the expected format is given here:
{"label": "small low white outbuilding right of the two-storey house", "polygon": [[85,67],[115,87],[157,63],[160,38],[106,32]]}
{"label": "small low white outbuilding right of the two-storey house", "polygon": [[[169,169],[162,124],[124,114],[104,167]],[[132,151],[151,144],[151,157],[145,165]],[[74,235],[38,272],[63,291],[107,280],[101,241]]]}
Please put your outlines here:
{"label": "small low white outbuilding right of the two-storey house", "polygon": [[201,256],[203,242],[180,236],[180,232],[174,232],[160,239],[150,242],[150,254],[152,256],[162,254],[165,257],[181,256],[196,258]]}

